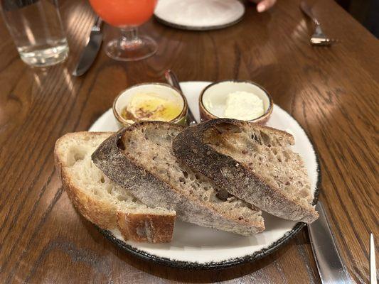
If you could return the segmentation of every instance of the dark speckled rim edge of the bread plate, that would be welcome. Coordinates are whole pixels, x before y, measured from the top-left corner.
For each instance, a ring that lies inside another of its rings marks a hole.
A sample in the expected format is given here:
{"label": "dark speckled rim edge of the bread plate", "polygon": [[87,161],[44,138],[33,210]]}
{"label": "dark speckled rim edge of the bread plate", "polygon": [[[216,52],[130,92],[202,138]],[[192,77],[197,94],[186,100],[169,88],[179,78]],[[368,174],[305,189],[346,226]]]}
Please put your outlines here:
{"label": "dark speckled rim edge of the bread plate", "polygon": [[[283,109],[284,110],[284,109]],[[287,112],[287,111],[286,111]],[[294,117],[287,112],[289,116],[294,119]],[[294,121],[297,122],[296,119]],[[304,131],[306,137],[308,138],[309,142],[311,143],[311,146],[314,150],[314,154],[316,155],[316,164],[317,164],[317,182],[316,182],[316,189],[314,190],[314,200],[312,204],[316,204],[317,200],[319,200],[319,190],[321,185],[321,168],[320,168],[320,159],[318,151],[316,150],[313,141],[309,138],[306,131],[303,129],[303,127],[297,122],[299,127]],[[299,231],[305,226],[306,224],[303,222],[298,222],[295,224],[295,226],[292,228],[291,231],[288,231],[282,238],[278,239],[274,243],[270,244],[267,248],[261,249],[260,251],[255,251],[255,253],[249,254],[247,256],[241,256],[238,258],[230,258],[225,261],[217,261],[217,262],[208,262],[208,263],[198,263],[198,262],[191,262],[191,261],[176,261],[174,259],[170,258],[164,258],[161,256],[155,256],[151,253],[146,253],[146,251],[139,250],[137,248],[134,248],[133,246],[130,246],[129,244],[125,244],[124,241],[121,241],[117,239],[110,231],[100,229],[101,233],[110,240],[113,244],[118,246],[120,249],[127,251],[129,253],[132,253],[134,256],[137,256],[139,258],[143,258],[146,261],[151,261],[156,264],[160,264],[163,266],[170,266],[174,268],[184,268],[184,269],[190,269],[190,270],[210,270],[210,269],[224,269],[224,268],[230,268],[232,266],[237,266],[243,263],[247,262],[253,262],[257,261],[260,258],[263,258],[265,256],[268,256],[270,253],[273,253],[274,251],[277,251],[281,246],[284,246],[284,244],[287,244],[290,239],[292,239],[294,236],[296,236]]]}

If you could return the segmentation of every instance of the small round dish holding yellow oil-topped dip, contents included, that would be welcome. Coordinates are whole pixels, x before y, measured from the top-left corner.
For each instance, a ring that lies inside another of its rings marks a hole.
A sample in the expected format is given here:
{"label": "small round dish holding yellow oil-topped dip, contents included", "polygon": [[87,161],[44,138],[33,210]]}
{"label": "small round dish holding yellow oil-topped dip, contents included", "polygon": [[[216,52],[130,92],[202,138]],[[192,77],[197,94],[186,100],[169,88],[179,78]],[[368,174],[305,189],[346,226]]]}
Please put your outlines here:
{"label": "small round dish holding yellow oil-topped dip, contents included", "polygon": [[120,127],[138,121],[168,121],[186,124],[188,104],[174,87],[162,83],[136,84],[122,91],[113,102]]}

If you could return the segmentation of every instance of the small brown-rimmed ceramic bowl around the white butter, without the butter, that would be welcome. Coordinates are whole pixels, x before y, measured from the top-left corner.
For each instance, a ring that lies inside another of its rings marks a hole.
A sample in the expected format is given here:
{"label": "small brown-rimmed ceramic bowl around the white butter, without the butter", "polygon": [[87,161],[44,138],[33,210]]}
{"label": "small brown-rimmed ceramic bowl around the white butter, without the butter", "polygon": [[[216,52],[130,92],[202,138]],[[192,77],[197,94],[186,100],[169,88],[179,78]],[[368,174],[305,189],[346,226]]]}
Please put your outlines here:
{"label": "small brown-rimmed ceramic bowl around the white butter, without the butter", "polygon": [[[250,92],[257,95],[263,101],[264,114],[256,119],[249,120],[257,124],[266,124],[272,114],[274,102],[269,93],[250,81],[225,80],[215,82],[203,89],[198,99],[201,121],[222,118],[228,94],[232,92]],[[208,106],[208,109],[205,107]],[[209,107],[211,106],[211,107]],[[211,109],[210,109],[211,108]]]}

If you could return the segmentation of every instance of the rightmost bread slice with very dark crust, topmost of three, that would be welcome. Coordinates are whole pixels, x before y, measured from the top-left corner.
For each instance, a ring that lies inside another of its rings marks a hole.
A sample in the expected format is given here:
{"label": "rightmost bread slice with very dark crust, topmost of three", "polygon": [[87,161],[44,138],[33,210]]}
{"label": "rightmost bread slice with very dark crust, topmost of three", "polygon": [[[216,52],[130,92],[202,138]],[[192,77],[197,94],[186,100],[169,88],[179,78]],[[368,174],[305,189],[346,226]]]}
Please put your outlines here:
{"label": "rightmost bread slice with very dark crust, topmost of three", "polygon": [[219,187],[263,211],[284,219],[314,222],[319,214],[303,160],[284,131],[214,119],[176,136],[176,158]]}

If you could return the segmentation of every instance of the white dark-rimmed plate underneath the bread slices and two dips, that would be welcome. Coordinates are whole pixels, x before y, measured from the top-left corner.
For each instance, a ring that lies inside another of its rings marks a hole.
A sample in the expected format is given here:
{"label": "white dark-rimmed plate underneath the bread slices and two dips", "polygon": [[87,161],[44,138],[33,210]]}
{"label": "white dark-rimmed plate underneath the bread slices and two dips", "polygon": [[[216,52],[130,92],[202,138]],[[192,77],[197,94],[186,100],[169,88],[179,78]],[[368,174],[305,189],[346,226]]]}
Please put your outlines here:
{"label": "white dark-rimmed plate underneath the bread slices and two dips", "polygon": [[[210,82],[182,82],[183,93],[198,121],[198,96]],[[304,159],[311,180],[311,190],[318,195],[320,182],[319,163],[314,147],[297,121],[286,111],[274,105],[269,126],[292,133],[296,139],[293,150]],[[105,112],[90,131],[117,131],[112,109]],[[145,244],[124,241],[119,231],[102,231],[117,246],[142,258],[181,268],[225,268],[247,261],[255,261],[286,243],[304,226],[263,213],[266,230],[255,236],[240,236],[225,231],[208,229],[176,221],[174,239],[169,244]]]}

